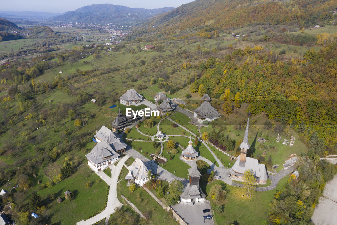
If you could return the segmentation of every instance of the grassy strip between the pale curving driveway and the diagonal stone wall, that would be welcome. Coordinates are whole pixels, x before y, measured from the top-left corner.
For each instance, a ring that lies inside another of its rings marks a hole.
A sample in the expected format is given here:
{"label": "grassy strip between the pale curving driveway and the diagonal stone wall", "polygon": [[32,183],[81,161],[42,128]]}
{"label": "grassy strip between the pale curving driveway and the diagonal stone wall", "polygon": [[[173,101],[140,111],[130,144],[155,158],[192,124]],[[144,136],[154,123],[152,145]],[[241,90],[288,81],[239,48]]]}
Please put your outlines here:
{"label": "grassy strip between the pale curving driveway and the diagonal stone wall", "polygon": [[[127,173],[128,170],[123,167],[120,177],[125,177]],[[146,221],[145,224],[177,224],[177,222],[170,216],[171,213],[164,210],[143,188],[137,186],[133,193],[130,192],[126,186],[126,179],[122,179],[117,184],[117,197],[121,203],[128,205],[124,199],[122,199],[121,194],[123,194],[130,202],[132,202],[141,211],[142,214],[149,212],[151,215],[150,220]]]}

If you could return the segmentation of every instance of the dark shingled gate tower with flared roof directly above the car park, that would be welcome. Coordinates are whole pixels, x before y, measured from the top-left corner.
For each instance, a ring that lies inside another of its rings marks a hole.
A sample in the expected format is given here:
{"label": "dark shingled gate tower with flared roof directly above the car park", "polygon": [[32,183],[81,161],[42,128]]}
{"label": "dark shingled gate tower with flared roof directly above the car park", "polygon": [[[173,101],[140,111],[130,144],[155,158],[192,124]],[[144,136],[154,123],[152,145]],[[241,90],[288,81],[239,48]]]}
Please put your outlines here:
{"label": "dark shingled gate tower with flared roof directly above the car park", "polygon": [[192,161],[192,167],[188,169],[188,174],[189,183],[184,192],[180,195],[181,200],[185,202],[191,202],[192,199],[195,199],[196,201],[204,200],[206,195],[199,186],[201,173],[198,171],[196,159]]}

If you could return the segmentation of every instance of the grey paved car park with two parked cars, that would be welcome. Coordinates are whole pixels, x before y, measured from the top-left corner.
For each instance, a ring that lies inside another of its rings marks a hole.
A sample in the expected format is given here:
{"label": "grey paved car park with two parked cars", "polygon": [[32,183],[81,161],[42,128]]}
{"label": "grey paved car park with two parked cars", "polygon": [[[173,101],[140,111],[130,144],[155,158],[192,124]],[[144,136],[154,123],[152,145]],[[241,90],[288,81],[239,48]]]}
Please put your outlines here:
{"label": "grey paved car park with two parked cars", "polygon": [[187,224],[191,225],[213,225],[213,218],[211,220],[204,220],[204,216],[212,215],[212,212],[203,213],[204,209],[211,209],[209,201],[193,203],[182,203],[171,205],[177,214],[184,219]]}

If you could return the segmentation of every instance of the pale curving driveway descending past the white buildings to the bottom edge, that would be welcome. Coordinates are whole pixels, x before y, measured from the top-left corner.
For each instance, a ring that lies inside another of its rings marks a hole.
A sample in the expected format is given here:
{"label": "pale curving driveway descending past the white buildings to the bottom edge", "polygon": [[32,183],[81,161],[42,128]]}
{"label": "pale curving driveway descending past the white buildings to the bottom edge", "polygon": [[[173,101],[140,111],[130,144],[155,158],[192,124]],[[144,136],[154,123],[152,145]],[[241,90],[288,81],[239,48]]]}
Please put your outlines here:
{"label": "pale curving driveway descending past the white buildings to the bottom edge", "polygon": [[109,183],[111,183],[111,185],[109,190],[108,203],[106,204],[105,209],[100,214],[97,214],[96,216],[91,217],[88,220],[82,220],[76,223],[76,225],[91,225],[97,223],[98,221],[103,220],[106,217],[110,217],[110,215],[115,212],[116,207],[121,207],[123,205],[118,201],[117,198],[117,181],[119,173],[121,172],[123,165],[128,158],[129,156],[126,155],[118,162],[117,166],[112,164],[112,166],[110,167],[112,176],[109,180]]}

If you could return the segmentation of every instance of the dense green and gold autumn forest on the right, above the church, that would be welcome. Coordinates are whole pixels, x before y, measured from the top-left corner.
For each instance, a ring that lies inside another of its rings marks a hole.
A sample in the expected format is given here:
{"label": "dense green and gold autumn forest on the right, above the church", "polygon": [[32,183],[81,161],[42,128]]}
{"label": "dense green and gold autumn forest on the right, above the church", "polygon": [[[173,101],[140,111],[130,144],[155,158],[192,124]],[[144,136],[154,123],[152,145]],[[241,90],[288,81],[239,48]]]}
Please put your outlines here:
{"label": "dense green and gold autumn forest on the right, above the church", "polygon": [[[202,62],[202,76],[191,84],[190,91],[226,101],[228,114],[243,102],[250,103],[247,112],[256,115],[265,111],[283,128],[295,128],[315,153],[336,154],[336,54],[336,43],[318,52],[308,50],[303,60],[287,62],[250,47],[235,49],[223,60],[211,57]],[[244,65],[237,66],[232,57],[244,57]]]}

